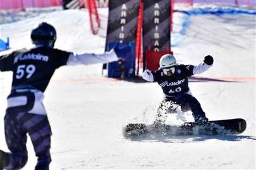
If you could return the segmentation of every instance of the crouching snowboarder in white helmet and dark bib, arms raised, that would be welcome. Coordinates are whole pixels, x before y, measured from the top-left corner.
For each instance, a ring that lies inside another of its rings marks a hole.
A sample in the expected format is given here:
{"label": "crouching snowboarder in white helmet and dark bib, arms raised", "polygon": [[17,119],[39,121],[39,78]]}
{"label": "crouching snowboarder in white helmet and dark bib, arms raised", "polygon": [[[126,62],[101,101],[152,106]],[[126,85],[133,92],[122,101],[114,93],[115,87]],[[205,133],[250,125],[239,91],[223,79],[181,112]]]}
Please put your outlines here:
{"label": "crouching snowboarder in white helmet and dark bib, arms raised", "polygon": [[171,54],[165,54],[160,58],[159,69],[156,71],[145,70],[142,78],[157,82],[163,89],[164,99],[157,110],[157,118],[154,124],[164,124],[168,112],[172,112],[172,105],[167,108],[165,113],[161,112],[163,106],[166,108],[166,102],[172,102],[181,106],[182,111],[191,111],[195,122],[205,123],[208,118],[199,103],[191,94],[188,87],[188,77],[194,74],[201,74],[208,70],[213,64],[213,58],[210,55],[204,57],[204,62],[199,65],[177,64],[176,59]]}

